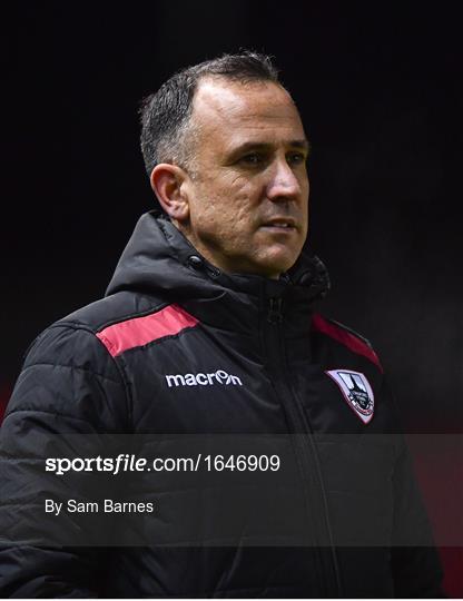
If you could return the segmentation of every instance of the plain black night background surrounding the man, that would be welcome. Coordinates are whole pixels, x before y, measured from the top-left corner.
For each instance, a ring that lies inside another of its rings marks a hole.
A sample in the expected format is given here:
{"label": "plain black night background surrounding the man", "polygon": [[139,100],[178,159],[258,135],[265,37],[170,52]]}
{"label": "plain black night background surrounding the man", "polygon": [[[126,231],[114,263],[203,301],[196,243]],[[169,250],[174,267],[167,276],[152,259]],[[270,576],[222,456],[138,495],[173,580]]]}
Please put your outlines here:
{"label": "plain black night background surrounding the man", "polygon": [[[333,280],[324,313],[372,341],[410,432],[461,434],[456,6],[161,0],[2,8],[3,402],[28,344],[104,294],[138,216],[152,207],[138,149],[139,100],[173,71],[245,47],[274,55],[313,146],[309,239]],[[461,514],[463,457],[433,459],[416,461],[439,531],[449,508]],[[463,553],[442,554],[447,591],[462,595]]]}

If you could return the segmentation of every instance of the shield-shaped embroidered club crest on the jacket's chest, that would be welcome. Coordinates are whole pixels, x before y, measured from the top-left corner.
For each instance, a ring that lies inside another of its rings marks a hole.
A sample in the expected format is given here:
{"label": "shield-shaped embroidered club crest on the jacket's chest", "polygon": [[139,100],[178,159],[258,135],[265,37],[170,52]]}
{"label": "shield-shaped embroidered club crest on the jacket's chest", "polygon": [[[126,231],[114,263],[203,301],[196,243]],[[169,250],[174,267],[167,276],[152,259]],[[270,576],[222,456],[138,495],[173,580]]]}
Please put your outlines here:
{"label": "shield-shaped embroidered club crest on the jacket's chest", "polygon": [[373,417],[375,397],[366,376],[347,370],[332,370],[325,373],[339,386],[348,406],[364,424],[367,424]]}

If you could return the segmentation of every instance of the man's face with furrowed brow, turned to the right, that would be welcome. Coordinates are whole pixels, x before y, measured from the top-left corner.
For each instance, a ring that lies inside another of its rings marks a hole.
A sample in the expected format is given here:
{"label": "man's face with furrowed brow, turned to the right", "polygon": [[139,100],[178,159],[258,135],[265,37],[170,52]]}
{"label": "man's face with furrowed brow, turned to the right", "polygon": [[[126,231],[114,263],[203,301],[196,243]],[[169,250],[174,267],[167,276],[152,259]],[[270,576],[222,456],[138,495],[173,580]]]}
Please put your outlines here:
{"label": "man's face with furrowed brow, turned to the right", "polygon": [[307,141],[289,95],[272,82],[205,79],[194,99],[186,235],[227,273],[272,278],[307,236]]}

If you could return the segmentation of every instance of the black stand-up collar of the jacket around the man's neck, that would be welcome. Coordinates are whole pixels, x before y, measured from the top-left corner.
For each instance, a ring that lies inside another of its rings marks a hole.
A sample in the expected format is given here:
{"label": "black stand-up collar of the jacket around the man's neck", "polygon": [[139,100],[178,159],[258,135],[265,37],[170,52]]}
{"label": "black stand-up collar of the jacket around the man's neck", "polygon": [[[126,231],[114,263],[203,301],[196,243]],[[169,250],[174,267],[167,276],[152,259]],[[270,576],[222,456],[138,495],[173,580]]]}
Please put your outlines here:
{"label": "black stand-up collar of the jacket around the man's neck", "polygon": [[106,294],[132,290],[179,303],[201,321],[239,331],[256,324],[270,298],[282,298],[286,322],[299,319],[301,324],[328,288],[325,266],[308,252],[278,280],[225,274],[201,257],[164,214],[154,210],[140,217]]}

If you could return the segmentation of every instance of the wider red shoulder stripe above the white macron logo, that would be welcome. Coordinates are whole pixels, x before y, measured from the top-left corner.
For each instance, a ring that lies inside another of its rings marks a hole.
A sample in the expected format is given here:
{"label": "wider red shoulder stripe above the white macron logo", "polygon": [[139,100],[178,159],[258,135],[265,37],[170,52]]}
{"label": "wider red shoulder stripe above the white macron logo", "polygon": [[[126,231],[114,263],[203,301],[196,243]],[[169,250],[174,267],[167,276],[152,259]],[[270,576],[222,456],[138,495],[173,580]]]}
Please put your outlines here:
{"label": "wider red shoulder stripe above the white macron logo", "polygon": [[157,313],[134,317],[105,327],[105,329],[98,332],[97,338],[116,357],[129,348],[144,346],[166,336],[174,336],[183,329],[194,327],[197,324],[198,319],[181,307],[169,305]]}

